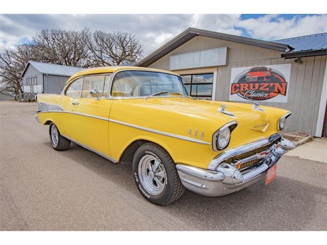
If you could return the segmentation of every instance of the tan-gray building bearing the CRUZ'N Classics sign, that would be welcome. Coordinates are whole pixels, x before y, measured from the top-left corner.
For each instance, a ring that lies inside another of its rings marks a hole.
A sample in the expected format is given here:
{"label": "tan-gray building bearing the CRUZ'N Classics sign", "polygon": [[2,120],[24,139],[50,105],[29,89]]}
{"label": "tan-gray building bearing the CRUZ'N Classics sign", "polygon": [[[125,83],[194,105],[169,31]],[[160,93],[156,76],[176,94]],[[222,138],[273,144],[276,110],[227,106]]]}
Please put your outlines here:
{"label": "tan-gray building bearing the CRUZ'N Classics sign", "polygon": [[326,60],[327,33],[264,41],[189,28],[136,66],[176,72],[195,99],[287,109],[293,114],[286,131],[321,137],[327,136]]}

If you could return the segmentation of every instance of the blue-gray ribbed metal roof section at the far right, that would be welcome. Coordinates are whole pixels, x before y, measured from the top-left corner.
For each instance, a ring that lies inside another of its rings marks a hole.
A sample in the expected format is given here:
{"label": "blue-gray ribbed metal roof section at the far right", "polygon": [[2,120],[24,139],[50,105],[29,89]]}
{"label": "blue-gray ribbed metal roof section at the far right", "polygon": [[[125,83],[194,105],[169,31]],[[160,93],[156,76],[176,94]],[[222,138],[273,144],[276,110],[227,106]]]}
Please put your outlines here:
{"label": "blue-gray ribbed metal roof section at the far right", "polygon": [[285,38],[275,40],[274,42],[290,45],[294,48],[290,52],[322,50],[324,48],[327,48],[327,33]]}

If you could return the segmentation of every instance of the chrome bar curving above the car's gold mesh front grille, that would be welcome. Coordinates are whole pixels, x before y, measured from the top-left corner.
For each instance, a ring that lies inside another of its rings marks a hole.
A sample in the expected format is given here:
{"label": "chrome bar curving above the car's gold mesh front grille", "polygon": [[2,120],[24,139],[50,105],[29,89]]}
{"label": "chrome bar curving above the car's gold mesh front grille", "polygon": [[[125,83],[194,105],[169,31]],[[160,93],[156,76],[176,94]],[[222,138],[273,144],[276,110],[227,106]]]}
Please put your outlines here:
{"label": "chrome bar curving above the car's gold mesh front grille", "polygon": [[278,138],[282,138],[282,135],[276,133],[276,134],[271,135],[269,138],[254,141],[252,143],[241,145],[241,146],[239,146],[237,148],[230,149],[230,150],[228,150],[226,152],[223,152],[220,155],[218,155],[216,158],[214,158],[209,163],[207,169],[208,170],[216,170],[218,165],[220,163],[222,163],[223,161],[225,161],[226,159],[228,159],[230,157],[235,157],[237,155],[240,155],[240,154],[243,154],[243,153],[246,153],[246,152],[253,151],[255,149],[258,149],[258,148],[260,148],[262,146],[270,144],[271,142],[275,141]]}

